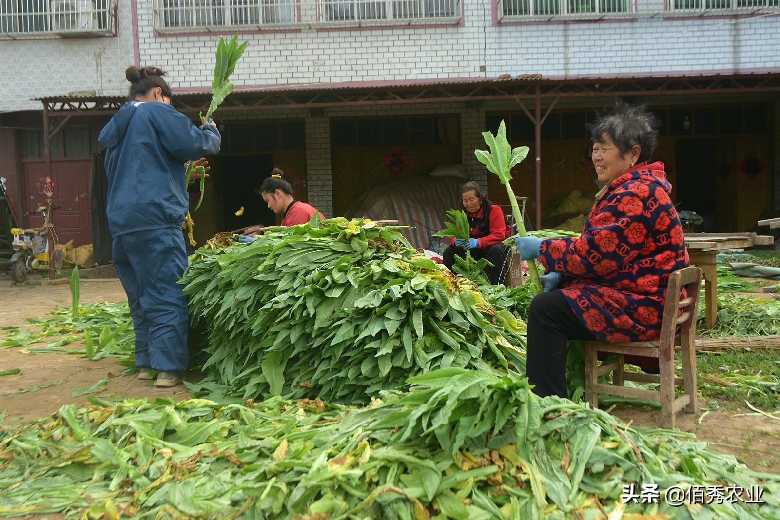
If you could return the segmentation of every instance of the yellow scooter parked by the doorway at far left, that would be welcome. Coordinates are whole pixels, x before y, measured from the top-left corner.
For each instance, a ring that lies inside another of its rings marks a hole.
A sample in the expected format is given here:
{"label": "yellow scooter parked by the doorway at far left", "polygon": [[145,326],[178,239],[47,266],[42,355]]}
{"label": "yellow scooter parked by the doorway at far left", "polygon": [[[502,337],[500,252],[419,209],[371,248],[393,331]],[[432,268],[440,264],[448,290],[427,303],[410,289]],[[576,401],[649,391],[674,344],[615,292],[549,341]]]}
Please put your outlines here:
{"label": "yellow scooter parked by the doorway at far left", "polygon": [[49,253],[50,253],[50,235],[54,228],[51,225],[51,210],[56,210],[62,206],[52,206],[51,199],[48,200],[48,206],[40,206],[37,210],[27,213],[38,214],[44,218],[44,225],[40,228],[11,228],[13,242],[11,246],[16,253],[11,256],[11,279],[16,284],[23,284],[27,281],[27,273],[35,269],[38,271],[48,271]]}

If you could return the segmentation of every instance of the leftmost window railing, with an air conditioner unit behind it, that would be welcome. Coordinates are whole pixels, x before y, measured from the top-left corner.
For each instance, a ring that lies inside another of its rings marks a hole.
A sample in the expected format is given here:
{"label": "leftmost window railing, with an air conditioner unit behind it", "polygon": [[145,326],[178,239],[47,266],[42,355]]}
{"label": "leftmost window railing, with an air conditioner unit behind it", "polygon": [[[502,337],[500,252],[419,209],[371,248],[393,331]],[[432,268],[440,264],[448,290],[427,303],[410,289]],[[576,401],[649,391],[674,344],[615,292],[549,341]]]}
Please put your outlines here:
{"label": "leftmost window railing, with an air conditioner unit behind it", "polygon": [[115,0],[0,0],[3,37],[116,34]]}

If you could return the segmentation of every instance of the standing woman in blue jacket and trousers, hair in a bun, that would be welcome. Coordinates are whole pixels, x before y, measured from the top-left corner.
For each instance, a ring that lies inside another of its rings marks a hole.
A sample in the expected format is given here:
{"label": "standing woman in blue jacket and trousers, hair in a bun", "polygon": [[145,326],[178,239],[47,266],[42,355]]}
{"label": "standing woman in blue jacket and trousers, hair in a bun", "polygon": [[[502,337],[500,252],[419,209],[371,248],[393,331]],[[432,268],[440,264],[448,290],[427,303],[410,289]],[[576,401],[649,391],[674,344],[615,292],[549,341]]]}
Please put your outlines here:
{"label": "standing woman in blue jacket and trousers, hair in a bun", "polygon": [[182,382],[190,363],[186,296],[177,283],[187,267],[182,225],[190,198],[186,161],[218,154],[214,122],[194,126],[171,106],[156,67],[129,67],[129,102],[100,134],[108,176],[108,228],[114,267],[127,293],[139,379],[158,371],[157,386]]}

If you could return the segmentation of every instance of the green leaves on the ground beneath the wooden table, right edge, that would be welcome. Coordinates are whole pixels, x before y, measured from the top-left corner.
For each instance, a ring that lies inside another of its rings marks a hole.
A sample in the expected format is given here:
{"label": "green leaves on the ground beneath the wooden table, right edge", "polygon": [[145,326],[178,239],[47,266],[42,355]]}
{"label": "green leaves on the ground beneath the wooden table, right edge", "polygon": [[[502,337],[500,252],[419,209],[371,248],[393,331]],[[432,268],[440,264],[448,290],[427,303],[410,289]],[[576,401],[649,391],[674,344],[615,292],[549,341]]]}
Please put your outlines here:
{"label": "green leaves on the ground beneath the wooden table, right edge", "polygon": [[699,298],[697,334],[707,338],[780,335],[780,300],[719,294],[718,322],[711,329],[706,327],[705,310],[702,292]]}

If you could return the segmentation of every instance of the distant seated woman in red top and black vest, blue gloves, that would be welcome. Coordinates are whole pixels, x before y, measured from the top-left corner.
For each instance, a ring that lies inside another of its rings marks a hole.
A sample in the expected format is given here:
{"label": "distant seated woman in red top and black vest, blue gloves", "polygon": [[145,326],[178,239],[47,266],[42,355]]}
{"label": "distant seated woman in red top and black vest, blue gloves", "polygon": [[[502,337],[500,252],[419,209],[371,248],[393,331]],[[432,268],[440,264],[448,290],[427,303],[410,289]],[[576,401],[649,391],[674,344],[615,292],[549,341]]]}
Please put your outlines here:
{"label": "distant seated woman in red top and black vest, blue gloves", "polygon": [[488,200],[482,186],[477,182],[466,182],[460,188],[463,210],[469,220],[470,239],[450,239],[450,246],[444,250],[444,264],[449,269],[455,265],[455,256],[464,256],[466,249],[475,260],[488,259],[494,265],[490,268],[490,282],[501,283],[501,270],[504,264],[504,245],[502,241],[511,235],[506,225],[504,211],[498,204]]}

